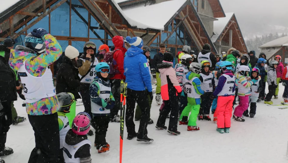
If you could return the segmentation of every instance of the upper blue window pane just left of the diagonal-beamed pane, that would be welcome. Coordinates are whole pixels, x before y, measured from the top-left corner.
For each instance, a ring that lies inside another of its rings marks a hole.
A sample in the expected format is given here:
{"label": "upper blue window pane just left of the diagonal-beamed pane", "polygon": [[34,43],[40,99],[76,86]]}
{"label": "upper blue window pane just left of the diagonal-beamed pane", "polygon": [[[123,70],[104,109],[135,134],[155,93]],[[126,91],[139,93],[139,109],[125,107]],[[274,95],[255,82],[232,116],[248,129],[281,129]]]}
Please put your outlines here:
{"label": "upper blue window pane just left of the diagonal-beamed pane", "polygon": [[70,6],[63,3],[50,14],[51,34],[54,36],[69,36],[69,11]]}

